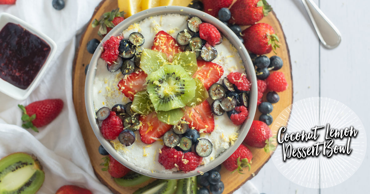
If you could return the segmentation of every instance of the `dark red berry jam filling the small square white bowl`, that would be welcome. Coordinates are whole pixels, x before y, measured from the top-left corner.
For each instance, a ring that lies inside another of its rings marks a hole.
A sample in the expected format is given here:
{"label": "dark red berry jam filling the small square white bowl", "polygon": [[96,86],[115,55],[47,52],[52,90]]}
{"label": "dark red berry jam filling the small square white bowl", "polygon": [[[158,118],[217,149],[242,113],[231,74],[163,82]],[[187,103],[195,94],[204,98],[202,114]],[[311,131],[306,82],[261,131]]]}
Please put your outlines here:
{"label": "dark red berry jam filling the small square white bowl", "polygon": [[27,89],[44,65],[50,46],[18,24],[0,31],[0,78]]}

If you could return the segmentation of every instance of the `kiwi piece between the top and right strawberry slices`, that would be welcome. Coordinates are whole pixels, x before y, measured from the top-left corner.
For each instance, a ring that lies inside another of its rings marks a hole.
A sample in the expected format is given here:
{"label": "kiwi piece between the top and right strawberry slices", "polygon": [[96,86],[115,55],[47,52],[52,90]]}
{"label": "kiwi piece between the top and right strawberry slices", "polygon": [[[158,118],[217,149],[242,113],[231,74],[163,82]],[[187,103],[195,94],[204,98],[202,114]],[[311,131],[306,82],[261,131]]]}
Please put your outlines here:
{"label": "kiwi piece between the top and right strawberry slices", "polygon": [[179,52],[174,55],[173,62],[174,65],[180,65],[192,76],[196,70],[198,70],[198,65],[196,63],[195,52],[185,51]]}

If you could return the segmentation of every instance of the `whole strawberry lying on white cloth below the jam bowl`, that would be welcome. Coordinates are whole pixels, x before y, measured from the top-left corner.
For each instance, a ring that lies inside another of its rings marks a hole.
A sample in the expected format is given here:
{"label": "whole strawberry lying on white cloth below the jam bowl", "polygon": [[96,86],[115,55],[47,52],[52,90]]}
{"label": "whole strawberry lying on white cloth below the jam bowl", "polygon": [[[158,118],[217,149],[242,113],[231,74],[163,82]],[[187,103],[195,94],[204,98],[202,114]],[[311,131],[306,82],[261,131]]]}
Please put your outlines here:
{"label": "whole strawberry lying on white cloth below the jam bowl", "polygon": [[26,107],[18,105],[22,110],[22,127],[31,128],[38,132],[36,127],[42,127],[53,121],[63,109],[61,99],[46,99],[43,101],[32,102]]}

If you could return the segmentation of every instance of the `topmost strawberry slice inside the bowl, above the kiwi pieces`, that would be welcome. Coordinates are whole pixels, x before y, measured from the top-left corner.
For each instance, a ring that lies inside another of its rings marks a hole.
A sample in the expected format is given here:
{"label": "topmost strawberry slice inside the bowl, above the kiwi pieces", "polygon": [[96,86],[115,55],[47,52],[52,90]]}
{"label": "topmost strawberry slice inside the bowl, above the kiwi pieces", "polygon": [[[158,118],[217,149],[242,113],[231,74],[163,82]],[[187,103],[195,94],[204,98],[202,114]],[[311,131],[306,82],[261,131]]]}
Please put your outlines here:
{"label": "topmost strawberry slice inside the bowl, above the kiwi pieces", "polygon": [[172,61],[174,54],[182,52],[176,39],[163,30],[155,35],[152,50],[165,53],[169,61]]}

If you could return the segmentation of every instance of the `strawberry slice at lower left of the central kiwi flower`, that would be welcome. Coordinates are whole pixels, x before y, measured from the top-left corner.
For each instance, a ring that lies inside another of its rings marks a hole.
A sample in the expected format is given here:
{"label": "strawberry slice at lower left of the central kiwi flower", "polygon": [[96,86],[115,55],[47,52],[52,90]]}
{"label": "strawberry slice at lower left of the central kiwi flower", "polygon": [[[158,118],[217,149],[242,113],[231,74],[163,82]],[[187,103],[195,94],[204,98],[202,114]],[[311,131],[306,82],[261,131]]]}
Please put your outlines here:
{"label": "strawberry slice at lower left of the central kiwi flower", "polygon": [[139,128],[141,141],[146,144],[154,143],[172,127],[172,125],[160,122],[155,112],[147,116],[141,115],[139,120],[142,123]]}

